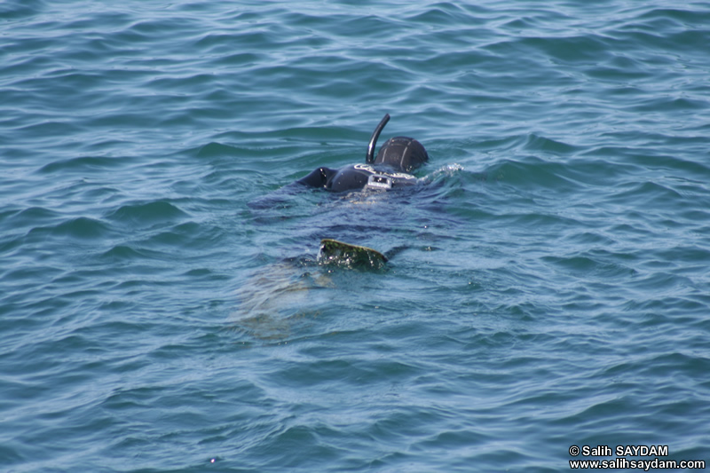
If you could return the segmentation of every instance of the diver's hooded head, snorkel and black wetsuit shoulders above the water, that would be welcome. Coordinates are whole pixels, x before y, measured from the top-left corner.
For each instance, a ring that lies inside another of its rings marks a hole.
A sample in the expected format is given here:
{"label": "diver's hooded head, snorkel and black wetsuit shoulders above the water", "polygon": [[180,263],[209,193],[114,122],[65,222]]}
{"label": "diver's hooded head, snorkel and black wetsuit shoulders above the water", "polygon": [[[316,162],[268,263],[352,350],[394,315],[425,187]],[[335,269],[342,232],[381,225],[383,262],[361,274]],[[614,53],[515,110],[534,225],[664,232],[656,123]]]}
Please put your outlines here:
{"label": "diver's hooded head, snorkel and black wetsuit shoulders above the water", "polygon": [[373,131],[367,146],[365,164],[354,164],[341,169],[314,169],[308,176],[298,179],[296,184],[322,187],[336,193],[365,188],[390,190],[416,184],[416,177],[410,173],[429,161],[427,151],[416,139],[390,138],[375,157],[377,138],[389,121],[390,114],[385,114]]}

